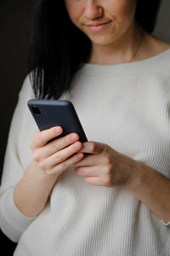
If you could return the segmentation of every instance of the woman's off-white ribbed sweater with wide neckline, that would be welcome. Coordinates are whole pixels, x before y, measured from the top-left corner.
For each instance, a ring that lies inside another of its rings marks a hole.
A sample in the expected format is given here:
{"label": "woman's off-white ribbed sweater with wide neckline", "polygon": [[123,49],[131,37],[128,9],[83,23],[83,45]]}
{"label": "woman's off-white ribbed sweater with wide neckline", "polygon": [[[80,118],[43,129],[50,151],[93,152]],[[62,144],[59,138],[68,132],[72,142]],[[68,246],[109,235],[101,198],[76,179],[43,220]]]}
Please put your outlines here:
{"label": "woman's off-white ribbed sweater with wide neckline", "polygon": [[[13,189],[32,159],[29,142],[37,126],[26,106],[32,97],[26,78],[9,132],[0,190],[1,228],[19,241],[14,255],[170,255],[169,225],[129,190],[89,185],[73,167],[59,177],[37,218],[21,214]],[[74,104],[88,141],[106,143],[170,178],[170,49],[144,61],[85,64],[60,99]]]}

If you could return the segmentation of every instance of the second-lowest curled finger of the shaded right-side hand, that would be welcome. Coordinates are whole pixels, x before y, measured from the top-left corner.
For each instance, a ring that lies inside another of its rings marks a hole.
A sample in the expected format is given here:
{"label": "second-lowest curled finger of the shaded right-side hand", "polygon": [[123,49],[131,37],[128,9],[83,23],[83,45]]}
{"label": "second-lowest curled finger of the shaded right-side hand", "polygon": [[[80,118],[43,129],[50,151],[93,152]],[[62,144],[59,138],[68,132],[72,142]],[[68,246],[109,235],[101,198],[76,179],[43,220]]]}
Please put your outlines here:
{"label": "second-lowest curled finger of the shaded right-side hand", "polygon": [[76,167],[75,172],[80,176],[102,176],[105,175],[104,166]]}

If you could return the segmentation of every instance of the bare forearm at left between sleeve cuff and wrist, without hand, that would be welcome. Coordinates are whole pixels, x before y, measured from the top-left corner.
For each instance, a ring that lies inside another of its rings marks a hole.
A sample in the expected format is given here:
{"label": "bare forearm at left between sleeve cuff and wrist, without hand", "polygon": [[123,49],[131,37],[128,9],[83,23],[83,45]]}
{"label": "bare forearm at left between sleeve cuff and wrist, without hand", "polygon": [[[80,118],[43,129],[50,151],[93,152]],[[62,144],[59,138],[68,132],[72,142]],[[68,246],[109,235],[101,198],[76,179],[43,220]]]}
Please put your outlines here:
{"label": "bare forearm at left between sleeve cuff and wrist, without hand", "polygon": [[32,161],[14,189],[14,203],[20,212],[26,217],[35,217],[42,212],[56,180],[56,176],[44,174],[37,163]]}

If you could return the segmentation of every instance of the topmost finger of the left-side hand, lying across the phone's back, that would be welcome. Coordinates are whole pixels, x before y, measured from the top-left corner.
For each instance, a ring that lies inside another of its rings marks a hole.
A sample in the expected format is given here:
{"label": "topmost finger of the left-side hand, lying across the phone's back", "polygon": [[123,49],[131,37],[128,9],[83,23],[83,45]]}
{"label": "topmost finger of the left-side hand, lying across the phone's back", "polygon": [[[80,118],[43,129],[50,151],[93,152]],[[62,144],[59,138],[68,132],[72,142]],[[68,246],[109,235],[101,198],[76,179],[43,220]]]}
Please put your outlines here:
{"label": "topmost finger of the left-side hand, lying across the phone's back", "polygon": [[60,126],[56,126],[56,127],[49,128],[48,130],[39,131],[39,132],[36,131],[36,134],[32,142],[33,147],[41,148],[54,137],[58,137],[63,132],[62,127],[60,127],[61,130],[59,131],[59,127]]}

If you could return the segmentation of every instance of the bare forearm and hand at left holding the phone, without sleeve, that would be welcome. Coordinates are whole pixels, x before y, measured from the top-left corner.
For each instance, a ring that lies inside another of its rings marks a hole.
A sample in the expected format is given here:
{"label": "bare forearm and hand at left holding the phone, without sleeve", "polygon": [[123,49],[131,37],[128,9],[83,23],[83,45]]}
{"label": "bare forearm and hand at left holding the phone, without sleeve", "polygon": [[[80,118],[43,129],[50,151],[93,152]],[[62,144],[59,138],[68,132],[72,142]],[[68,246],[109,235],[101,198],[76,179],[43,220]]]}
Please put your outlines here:
{"label": "bare forearm and hand at left holding the phone, without sleeve", "polygon": [[[52,127],[45,131],[36,131],[31,138],[33,160],[14,189],[15,204],[26,216],[35,217],[42,212],[59,175],[79,160],[77,154],[71,156],[82,147],[80,142],[79,148],[74,147],[78,136],[72,140],[72,134],[69,134],[48,143],[62,132],[62,129],[59,131]],[[73,145],[69,146],[71,143]],[[65,148],[66,146],[69,147]],[[67,159],[69,156],[71,157]],[[83,154],[81,158],[82,156]]]}

